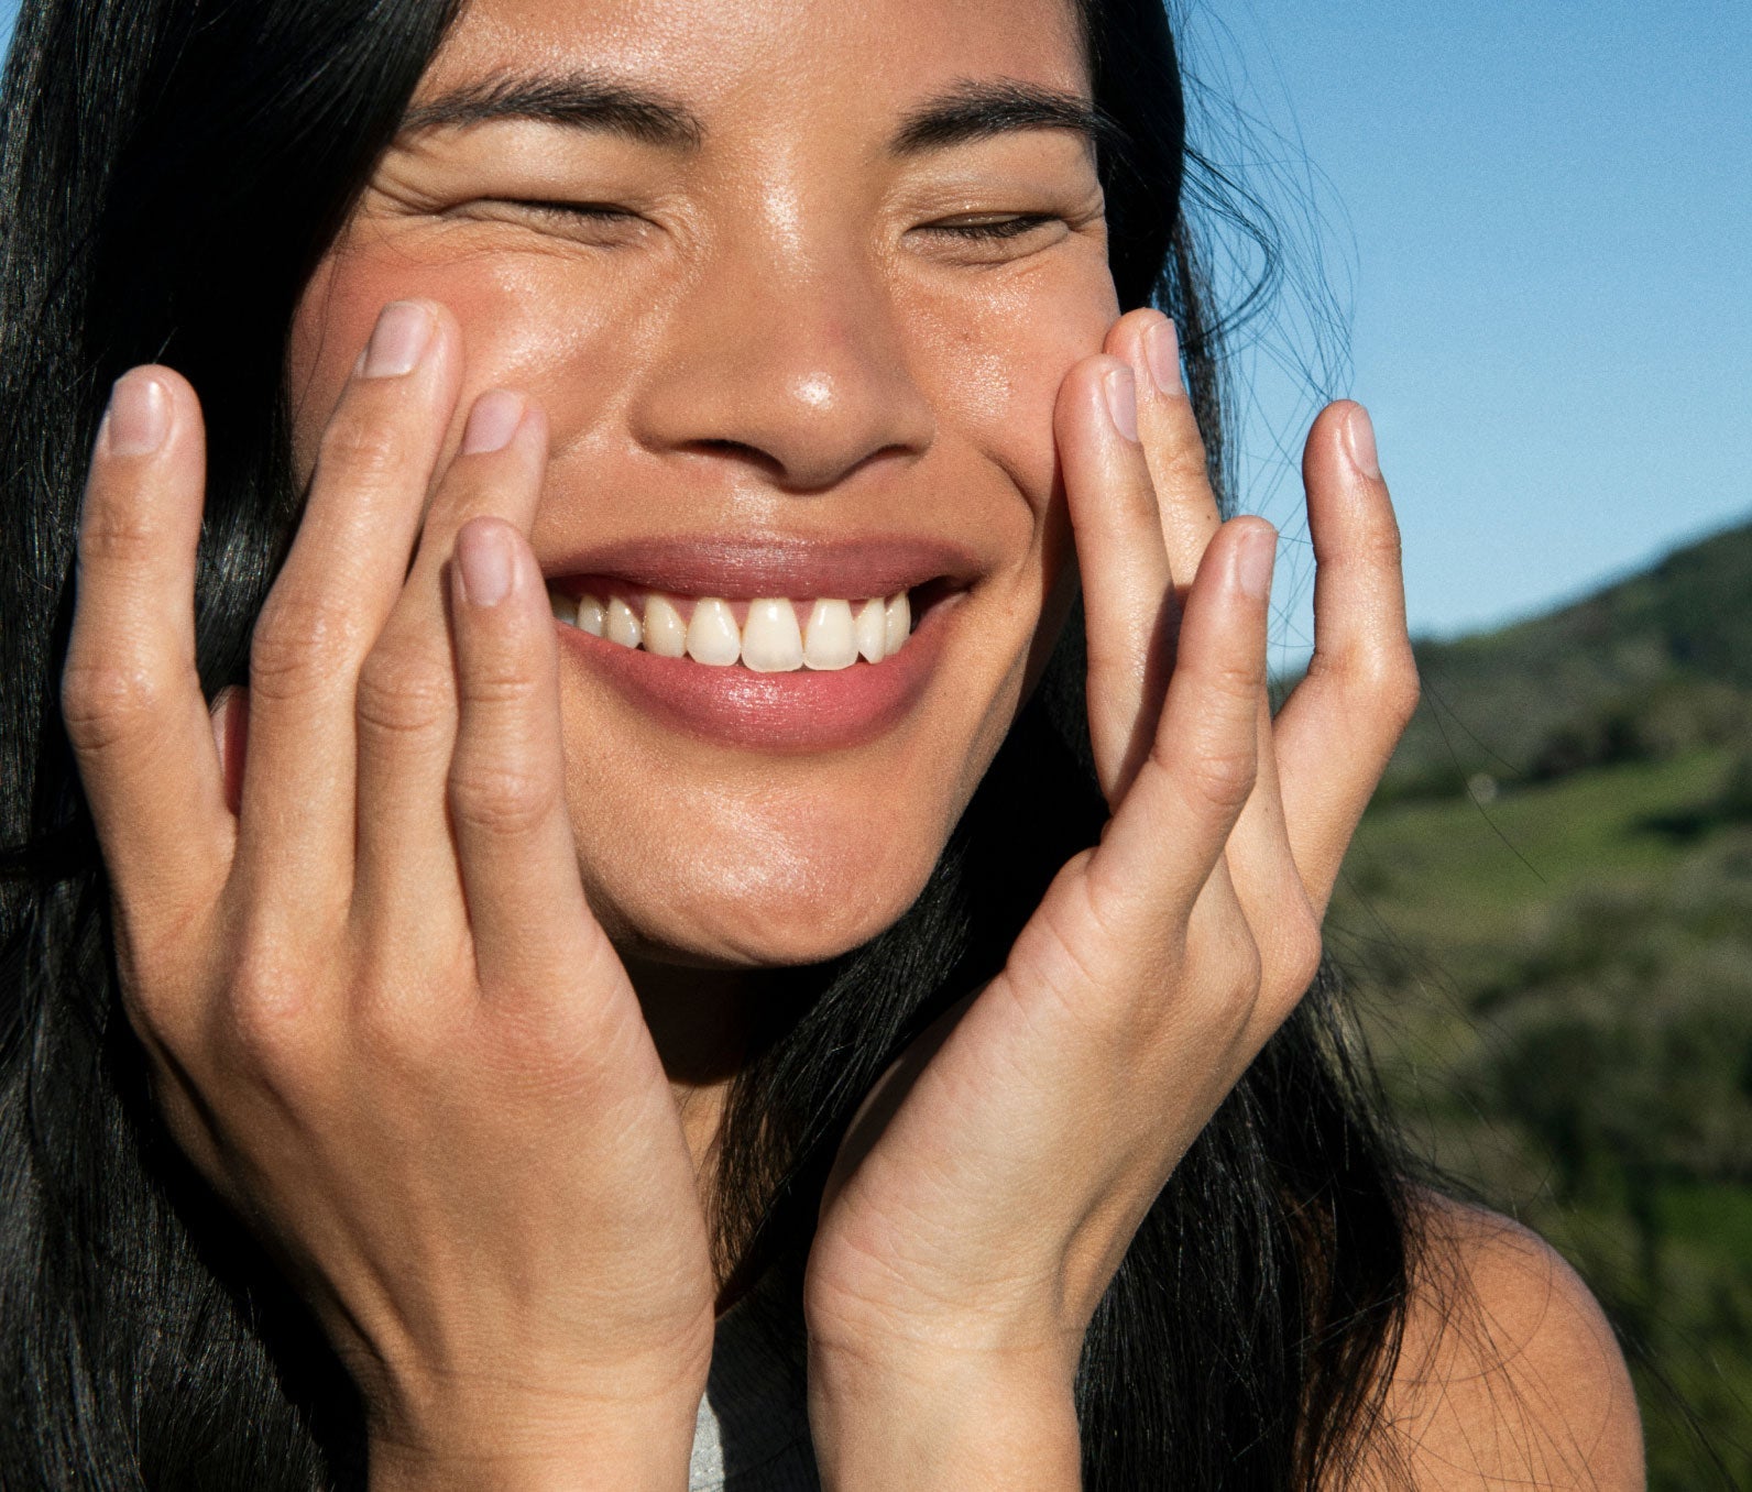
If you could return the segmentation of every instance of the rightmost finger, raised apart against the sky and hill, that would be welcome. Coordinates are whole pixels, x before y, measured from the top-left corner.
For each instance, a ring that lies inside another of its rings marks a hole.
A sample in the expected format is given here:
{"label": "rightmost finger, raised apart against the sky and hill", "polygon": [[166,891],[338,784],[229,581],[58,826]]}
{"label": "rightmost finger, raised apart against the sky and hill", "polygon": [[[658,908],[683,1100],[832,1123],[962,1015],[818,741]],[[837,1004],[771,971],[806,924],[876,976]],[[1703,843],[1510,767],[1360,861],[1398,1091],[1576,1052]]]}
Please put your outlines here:
{"label": "rightmost finger, raised apart against the sky and hill", "polygon": [[1314,655],[1277,714],[1289,844],[1325,911],[1339,865],[1417,704],[1400,531],[1361,405],[1328,408],[1303,457],[1314,541]]}

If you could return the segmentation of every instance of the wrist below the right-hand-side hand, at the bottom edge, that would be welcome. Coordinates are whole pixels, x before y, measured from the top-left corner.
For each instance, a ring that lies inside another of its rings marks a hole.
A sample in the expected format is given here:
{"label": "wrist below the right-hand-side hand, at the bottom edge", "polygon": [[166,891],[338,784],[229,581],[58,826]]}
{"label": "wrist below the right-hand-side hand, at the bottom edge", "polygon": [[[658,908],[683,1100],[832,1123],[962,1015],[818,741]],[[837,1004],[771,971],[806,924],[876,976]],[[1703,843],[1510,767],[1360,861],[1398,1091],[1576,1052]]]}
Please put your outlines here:
{"label": "wrist below the right-hand-side hand, at the bottom edge", "polygon": [[1083,1485],[1072,1373],[1056,1359],[811,1347],[809,1431],[827,1492]]}

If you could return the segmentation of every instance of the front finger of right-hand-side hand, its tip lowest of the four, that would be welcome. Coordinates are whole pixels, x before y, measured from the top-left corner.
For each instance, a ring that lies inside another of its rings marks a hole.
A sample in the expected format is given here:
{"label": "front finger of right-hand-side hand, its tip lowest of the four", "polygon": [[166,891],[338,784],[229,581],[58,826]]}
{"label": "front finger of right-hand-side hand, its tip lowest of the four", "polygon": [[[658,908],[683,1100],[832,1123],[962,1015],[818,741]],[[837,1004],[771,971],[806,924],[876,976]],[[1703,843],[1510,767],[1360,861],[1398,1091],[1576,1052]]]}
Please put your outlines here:
{"label": "front finger of right-hand-side hand, its tip lowest of the four", "polygon": [[1263,518],[1211,541],[1151,753],[1090,860],[1091,886],[1139,926],[1186,926],[1253,793],[1275,541]]}

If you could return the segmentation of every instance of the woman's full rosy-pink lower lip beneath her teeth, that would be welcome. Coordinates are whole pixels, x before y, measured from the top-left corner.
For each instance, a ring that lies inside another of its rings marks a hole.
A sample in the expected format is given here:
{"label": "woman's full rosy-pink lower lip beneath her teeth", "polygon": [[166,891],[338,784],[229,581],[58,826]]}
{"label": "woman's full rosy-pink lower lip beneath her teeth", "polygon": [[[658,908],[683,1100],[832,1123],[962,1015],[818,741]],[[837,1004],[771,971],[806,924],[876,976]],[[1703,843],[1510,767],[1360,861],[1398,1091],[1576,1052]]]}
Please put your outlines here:
{"label": "woman's full rosy-pink lower lip beneath her teeth", "polygon": [[906,646],[880,664],[757,674],[622,648],[557,622],[561,646],[622,699],[673,730],[764,751],[832,751],[892,730],[918,704],[943,650],[957,597],[925,611]]}

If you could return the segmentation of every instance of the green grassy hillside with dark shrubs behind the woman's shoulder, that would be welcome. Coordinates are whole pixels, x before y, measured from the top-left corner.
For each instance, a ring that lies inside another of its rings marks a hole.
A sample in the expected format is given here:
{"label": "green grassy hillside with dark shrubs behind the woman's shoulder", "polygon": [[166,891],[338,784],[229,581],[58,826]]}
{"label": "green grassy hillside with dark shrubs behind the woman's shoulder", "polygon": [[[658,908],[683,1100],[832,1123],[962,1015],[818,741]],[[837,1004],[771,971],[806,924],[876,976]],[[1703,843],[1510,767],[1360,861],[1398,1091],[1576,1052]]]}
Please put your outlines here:
{"label": "green grassy hillside with dark shrubs behind the woman's shoulder", "polygon": [[1752,1488],[1752,527],[1419,662],[1328,944],[1424,1147],[1624,1327],[1650,1485]]}

